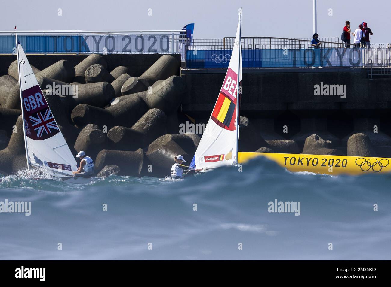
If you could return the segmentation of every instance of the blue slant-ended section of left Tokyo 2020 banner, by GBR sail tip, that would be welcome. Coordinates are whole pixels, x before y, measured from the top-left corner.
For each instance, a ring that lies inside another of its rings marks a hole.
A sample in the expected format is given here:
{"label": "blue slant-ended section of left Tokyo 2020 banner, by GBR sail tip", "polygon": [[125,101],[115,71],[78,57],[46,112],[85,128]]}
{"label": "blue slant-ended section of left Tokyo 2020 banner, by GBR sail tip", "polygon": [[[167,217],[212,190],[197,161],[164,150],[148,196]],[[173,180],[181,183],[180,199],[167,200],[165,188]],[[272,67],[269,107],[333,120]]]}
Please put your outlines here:
{"label": "blue slant-ended section of left Tokyo 2020 banner, by GBR sail tip", "polygon": [[[18,36],[25,53],[88,53],[83,36]],[[9,54],[15,48],[14,36],[0,37],[0,53]]]}

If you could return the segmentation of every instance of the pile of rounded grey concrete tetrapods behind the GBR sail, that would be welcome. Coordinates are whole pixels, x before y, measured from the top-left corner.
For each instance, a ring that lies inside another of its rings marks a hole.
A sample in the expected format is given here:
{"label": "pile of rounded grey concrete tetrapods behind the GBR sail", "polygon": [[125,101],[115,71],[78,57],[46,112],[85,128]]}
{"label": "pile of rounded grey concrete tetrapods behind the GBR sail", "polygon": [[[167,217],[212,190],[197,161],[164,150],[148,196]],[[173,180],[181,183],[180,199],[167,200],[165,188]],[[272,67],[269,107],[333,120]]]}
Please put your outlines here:
{"label": "pile of rounded grey concrete tetrapods behind the GBR sail", "polygon": [[[68,146],[93,157],[97,173],[165,176],[174,156],[191,160],[199,137],[179,134],[186,87],[178,55],[50,56],[28,57]],[[0,59],[2,71],[8,64],[0,77],[0,172],[12,174],[26,168],[18,69],[12,56]]]}

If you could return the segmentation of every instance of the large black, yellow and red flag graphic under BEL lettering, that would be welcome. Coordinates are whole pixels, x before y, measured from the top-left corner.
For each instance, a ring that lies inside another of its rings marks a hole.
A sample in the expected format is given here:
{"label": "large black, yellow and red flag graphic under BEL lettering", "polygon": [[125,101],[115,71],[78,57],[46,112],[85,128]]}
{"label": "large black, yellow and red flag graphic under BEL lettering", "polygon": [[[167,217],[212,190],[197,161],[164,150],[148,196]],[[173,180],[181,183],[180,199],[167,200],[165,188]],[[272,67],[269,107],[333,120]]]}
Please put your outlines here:
{"label": "large black, yellow and red flag graphic under BEL lettering", "polygon": [[235,103],[220,92],[211,118],[220,127],[225,128],[226,130],[235,130],[236,127],[233,120],[236,115],[235,107]]}

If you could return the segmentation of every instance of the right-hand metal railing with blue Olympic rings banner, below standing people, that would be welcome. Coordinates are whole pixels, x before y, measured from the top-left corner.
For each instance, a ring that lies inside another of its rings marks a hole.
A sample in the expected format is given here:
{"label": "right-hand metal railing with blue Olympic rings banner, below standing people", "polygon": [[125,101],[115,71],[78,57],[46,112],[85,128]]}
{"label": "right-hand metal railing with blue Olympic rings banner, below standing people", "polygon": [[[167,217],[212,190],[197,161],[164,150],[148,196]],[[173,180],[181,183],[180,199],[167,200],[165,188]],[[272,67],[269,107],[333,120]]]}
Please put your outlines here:
{"label": "right-hand metal railing with blue Olympic rings banner, below standing people", "polygon": [[[185,68],[227,68],[233,38],[194,39],[186,46]],[[289,67],[389,67],[391,44],[371,44],[362,48],[353,44],[323,41],[321,48],[312,48],[307,39],[243,37],[242,68]]]}

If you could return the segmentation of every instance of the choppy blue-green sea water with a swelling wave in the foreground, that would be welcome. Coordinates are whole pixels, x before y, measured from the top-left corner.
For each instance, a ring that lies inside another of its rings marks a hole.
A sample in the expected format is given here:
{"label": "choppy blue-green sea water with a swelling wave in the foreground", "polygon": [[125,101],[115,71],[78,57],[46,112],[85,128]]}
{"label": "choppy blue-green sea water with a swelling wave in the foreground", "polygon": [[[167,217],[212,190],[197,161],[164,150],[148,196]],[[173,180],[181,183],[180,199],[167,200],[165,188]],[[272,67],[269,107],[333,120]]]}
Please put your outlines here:
{"label": "choppy blue-green sea water with a swelling wave in the foreground", "polygon": [[183,180],[2,179],[0,201],[31,209],[0,213],[3,260],[391,259],[390,175],[290,173],[260,157]]}

